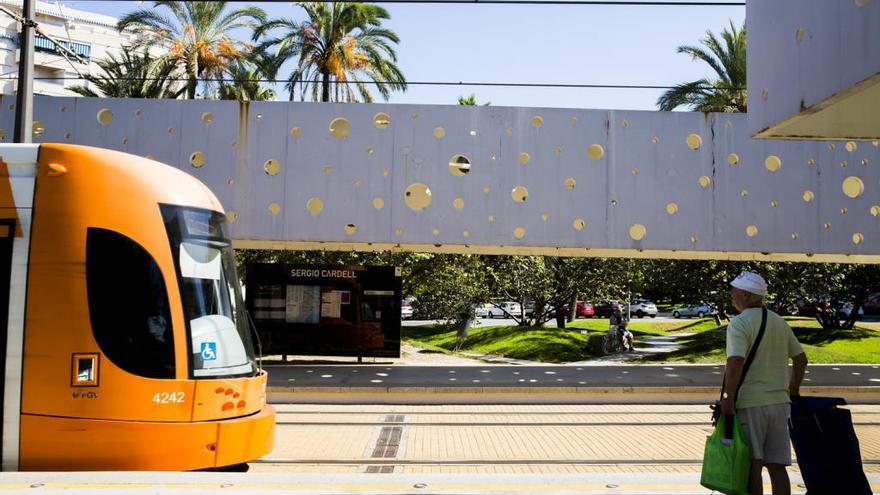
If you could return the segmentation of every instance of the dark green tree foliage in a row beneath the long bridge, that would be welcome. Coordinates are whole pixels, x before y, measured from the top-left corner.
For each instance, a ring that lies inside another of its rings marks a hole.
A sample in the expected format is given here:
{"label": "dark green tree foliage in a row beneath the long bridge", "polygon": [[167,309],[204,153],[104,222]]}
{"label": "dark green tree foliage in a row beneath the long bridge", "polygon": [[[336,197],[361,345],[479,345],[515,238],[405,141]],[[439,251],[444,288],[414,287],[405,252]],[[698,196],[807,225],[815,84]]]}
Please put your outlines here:
{"label": "dark green tree foliage in a row beneath the long bridge", "polygon": [[[877,265],[333,251],[244,251],[239,256],[242,261],[401,266],[404,293],[416,298],[414,307],[420,315],[453,323],[463,321],[469,308],[493,300],[534,301],[540,310],[544,304],[571,307],[576,299],[625,300],[628,292],[658,303],[665,299],[667,308],[709,302],[726,315],[732,313],[730,281],[743,270],[764,276],[773,309],[814,297],[861,304],[880,291]],[[518,320],[522,326],[534,326],[543,324],[547,316],[536,311],[534,317]],[[822,315],[819,323],[826,328],[852,328],[855,321],[831,312]],[[580,328],[577,322],[569,325]],[[640,323],[633,325],[630,328],[636,330]]]}

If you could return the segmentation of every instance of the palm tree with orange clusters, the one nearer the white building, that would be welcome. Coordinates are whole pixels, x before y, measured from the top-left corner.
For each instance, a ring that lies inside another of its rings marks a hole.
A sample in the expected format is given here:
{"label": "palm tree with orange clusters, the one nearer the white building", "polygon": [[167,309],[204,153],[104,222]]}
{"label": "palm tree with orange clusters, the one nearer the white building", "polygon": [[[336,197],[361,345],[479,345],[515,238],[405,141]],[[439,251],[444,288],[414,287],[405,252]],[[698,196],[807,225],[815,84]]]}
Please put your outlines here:
{"label": "palm tree with orange clusters, the one nearer the white building", "polygon": [[[227,10],[227,3],[156,1],[153,9],[139,9],[123,16],[116,28],[143,34],[136,46],[167,46],[165,58],[183,69],[187,97],[192,99],[200,79],[219,77],[240,56],[242,43],[233,40],[229,32],[237,28],[255,29],[266,22],[262,9]],[[169,10],[172,18],[162,15],[160,7]]]}

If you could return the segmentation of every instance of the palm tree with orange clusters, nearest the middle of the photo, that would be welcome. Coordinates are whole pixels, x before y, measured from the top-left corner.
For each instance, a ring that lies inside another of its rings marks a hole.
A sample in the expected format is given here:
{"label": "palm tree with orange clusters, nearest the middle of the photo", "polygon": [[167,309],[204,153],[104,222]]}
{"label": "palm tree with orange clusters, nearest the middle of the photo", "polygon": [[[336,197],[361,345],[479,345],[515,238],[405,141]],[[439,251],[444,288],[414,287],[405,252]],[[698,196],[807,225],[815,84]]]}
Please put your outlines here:
{"label": "palm tree with orange clusters, nearest the middle of the photo", "polygon": [[390,19],[385,9],[341,1],[297,5],[308,20],[277,19],[254,31],[256,41],[273,29],[282,30],[279,36],[263,40],[258,51],[274,47],[281,60],[297,58],[285,86],[291,100],[297,85],[301,99],[310,92],[313,101],[372,102],[367,81],[385,100],[392,90],[406,90],[392,46],[400,39],[381,27],[383,19]]}

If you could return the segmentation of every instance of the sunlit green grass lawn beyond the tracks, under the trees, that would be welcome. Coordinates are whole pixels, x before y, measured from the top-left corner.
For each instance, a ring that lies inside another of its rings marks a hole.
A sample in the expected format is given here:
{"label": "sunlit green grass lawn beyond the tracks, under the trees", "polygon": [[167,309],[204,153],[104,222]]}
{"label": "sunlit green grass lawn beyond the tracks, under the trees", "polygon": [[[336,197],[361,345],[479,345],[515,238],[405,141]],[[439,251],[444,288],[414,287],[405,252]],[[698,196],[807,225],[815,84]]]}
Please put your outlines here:
{"label": "sunlit green grass lawn beyond the tracks, under the trees", "polygon": [[[816,320],[786,318],[803,345],[811,363],[880,363],[880,324],[859,324],[853,330],[823,330]],[[683,337],[683,348],[669,353],[648,356],[644,362],[723,363],[725,360],[726,325],[714,320],[680,320],[656,322],[634,320],[629,324],[636,346],[644,338],[655,335],[693,333]],[[580,333],[587,330],[587,334]],[[608,319],[575,320],[567,329],[553,327],[523,328],[490,326],[472,328],[456,349],[454,331],[438,326],[403,327],[403,340],[429,352],[471,352],[492,354],[513,359],[546,363],[566,363],[590,359],[587,342],[590,335],[608,331]]]}

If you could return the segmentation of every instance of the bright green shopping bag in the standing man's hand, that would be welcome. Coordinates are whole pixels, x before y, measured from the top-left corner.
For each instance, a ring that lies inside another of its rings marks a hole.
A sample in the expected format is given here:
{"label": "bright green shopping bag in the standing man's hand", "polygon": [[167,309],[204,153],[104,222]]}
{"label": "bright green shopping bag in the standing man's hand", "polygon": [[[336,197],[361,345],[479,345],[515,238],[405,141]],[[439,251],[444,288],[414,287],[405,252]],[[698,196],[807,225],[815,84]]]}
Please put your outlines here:
{"label": "bright green shopping bag in the standing man's hand", "polygon": [[748,495],[752,447],[735,414],[718,418],[715,431],[706,438],[700,484],[727,495]]}

